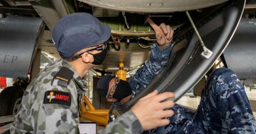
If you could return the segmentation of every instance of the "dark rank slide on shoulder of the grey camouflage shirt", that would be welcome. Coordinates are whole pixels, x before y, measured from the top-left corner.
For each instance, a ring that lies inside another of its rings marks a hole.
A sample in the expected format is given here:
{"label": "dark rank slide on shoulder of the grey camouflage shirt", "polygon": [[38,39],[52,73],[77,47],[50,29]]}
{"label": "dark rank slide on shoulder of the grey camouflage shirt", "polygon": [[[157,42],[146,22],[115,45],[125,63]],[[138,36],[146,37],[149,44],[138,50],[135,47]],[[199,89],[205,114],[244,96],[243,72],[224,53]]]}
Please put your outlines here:
{"label": "dark rank slide on shoulder of the grey camouflage shirt", "polygon": [[58,79],[58,86],[68,86],[68,83],[72,79],[74,72],[68,69],[67,67],[61,67],[60,71],[56,73],[54,79]]}

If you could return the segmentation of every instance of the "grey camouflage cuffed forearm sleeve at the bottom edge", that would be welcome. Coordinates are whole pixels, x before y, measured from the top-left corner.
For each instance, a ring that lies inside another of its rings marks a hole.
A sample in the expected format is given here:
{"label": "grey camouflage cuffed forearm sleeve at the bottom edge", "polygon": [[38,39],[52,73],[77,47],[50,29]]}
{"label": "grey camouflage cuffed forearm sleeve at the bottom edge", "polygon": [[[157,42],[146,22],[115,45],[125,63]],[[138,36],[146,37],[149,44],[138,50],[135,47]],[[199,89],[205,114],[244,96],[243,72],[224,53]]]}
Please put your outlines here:
{"label": "grey camouflage cuffed forearm sleeve at the bottom edge", "polygon": [[111,122],[105,129],[98,131],[98,134],[103,133],[142,133],[143,129],[138,118],[133,112],[125,112],[122,116]]}

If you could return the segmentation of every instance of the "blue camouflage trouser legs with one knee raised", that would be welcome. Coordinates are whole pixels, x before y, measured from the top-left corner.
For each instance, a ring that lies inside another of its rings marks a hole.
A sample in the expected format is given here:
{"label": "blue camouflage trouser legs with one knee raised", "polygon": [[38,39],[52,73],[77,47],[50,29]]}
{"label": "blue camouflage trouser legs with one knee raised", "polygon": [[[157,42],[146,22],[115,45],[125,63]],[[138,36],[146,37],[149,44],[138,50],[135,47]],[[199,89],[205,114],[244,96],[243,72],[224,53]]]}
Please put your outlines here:
{"label": "blue camouflage trouser legs with one knee raised", "polygon": [[217,69],[202,92],[195,113],[179,105],[168,126],[145,133],[256,133],[256,122],[244,86],[230,69]]}

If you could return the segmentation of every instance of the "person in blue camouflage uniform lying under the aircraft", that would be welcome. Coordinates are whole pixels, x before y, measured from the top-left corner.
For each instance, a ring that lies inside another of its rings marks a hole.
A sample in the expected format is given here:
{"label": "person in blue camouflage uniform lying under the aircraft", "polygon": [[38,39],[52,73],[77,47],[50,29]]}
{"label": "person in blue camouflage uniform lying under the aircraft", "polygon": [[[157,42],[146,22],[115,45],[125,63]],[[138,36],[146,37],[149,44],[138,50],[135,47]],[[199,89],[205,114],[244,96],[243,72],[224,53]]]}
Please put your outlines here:
{"label": "person in blue camouflage uniform lying under the aircraft", "polygon": [[[153,22],[150,24],[154,25]],[[169,45],[166,50],[160,50],[156,44],[152,46],[150,59],[129,80],[129,86],[132,90],[131,98],[144,90],[161,69],[167,65],[171,46],[173,45]],[[113,77],[103,76],[98,81],[97,88],[103,96],[107,96],[108,92],[102,92],[102,90],[109,90],[111,87],[110,78]],[[102,86],[103,83],[104,87]],[[106,88],[105,85],[109,85],[109,87]],[[117,88],[116,90],[123,89]],[[122,99],[112,104],[109,122],[118,120],[113,110],[116,105],[120,105],[120,101]],[[244,86],[230,69],[217,69],[209,76],[196,112],[177,104],[172,109],[175,115],[169,117],[170,124],[144,131],[144,133],[256,133],[255,118]]]}

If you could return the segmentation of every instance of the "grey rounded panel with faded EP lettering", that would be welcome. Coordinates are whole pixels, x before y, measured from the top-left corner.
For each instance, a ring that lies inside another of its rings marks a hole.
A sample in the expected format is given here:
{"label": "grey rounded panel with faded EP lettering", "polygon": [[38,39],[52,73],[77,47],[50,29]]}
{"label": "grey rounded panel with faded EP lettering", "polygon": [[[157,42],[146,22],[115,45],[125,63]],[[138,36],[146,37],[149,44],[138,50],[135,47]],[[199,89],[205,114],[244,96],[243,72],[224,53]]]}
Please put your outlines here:
{"label": "grey rounded panel with faded EP lettering", "polygon": [[0,76],[26,79],[43,29],[40,18],[0,18]]}

